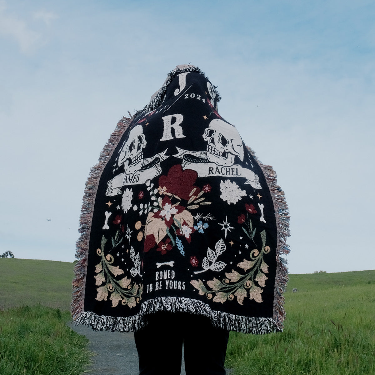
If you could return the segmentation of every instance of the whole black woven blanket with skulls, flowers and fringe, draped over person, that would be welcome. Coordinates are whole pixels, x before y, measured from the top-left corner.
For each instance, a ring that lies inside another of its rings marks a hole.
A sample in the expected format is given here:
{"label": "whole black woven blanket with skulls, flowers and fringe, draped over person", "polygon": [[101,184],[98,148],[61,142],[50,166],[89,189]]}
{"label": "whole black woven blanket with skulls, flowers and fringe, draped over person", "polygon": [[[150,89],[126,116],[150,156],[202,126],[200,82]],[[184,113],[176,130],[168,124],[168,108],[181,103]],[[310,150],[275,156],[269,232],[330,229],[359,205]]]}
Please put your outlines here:
{"label": "whole black woven blanket with skulls, flowers and fringe, draped over person", "polygon": [[84,193],[77,324],[129,332],[184,311],[238,332],[282,330],[284,193],[218,101],[199,68],[178,66],[117,124]]}

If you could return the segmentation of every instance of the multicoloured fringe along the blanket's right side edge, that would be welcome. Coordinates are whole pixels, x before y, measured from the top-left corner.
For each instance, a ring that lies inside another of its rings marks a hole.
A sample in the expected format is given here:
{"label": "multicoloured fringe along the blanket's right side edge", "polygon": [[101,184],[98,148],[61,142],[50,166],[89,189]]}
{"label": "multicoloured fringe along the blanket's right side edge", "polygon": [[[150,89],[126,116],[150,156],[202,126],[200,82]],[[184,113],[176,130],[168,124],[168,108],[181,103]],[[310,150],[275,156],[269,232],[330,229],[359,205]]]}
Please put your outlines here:
{"label": "multicoloured fringe along the blanket's right side edge", "polygon": [[277,174],[270,165],[264,165],[251,147],[246,147],[251,155],[257,160],[257,163],[261,167],[264,177],[266,177],[267,184],[269,186],[273,206],[275,207],[276,226],[278,228],[277,246],[276,246],[276,282],[275,282],[275,293],[273,302],[273,319],[276,322],[278,330],[282,331],[284,328],[283,321],[285,320],[285,309],[284,302],[285,298],[283,293],[287,288],[288,268],[287,260],[282,258],[282,254],[289,254],[290,249],[286,242],[287,237],[290,236],[289,230],[289,211],[288,204],[285,200],[284,192],[281,187],[277,184]]}

